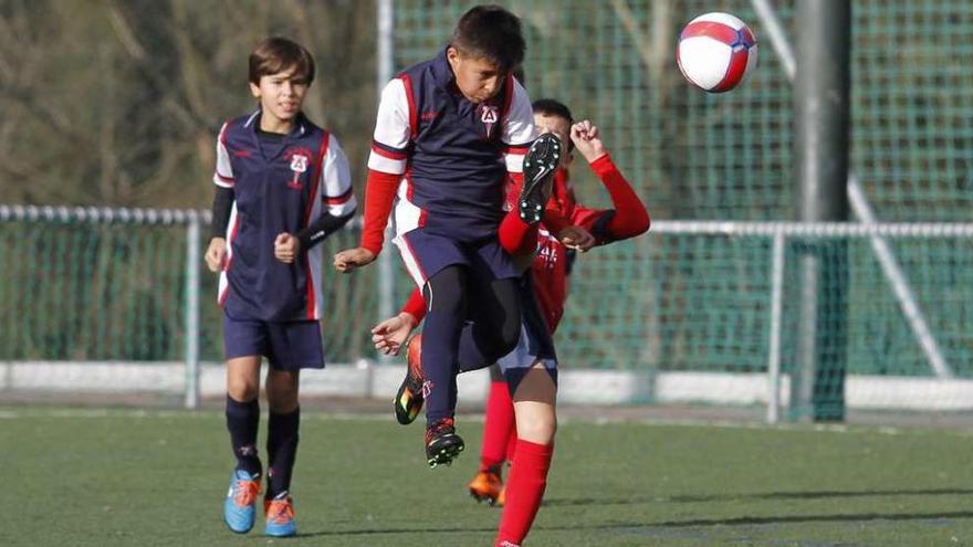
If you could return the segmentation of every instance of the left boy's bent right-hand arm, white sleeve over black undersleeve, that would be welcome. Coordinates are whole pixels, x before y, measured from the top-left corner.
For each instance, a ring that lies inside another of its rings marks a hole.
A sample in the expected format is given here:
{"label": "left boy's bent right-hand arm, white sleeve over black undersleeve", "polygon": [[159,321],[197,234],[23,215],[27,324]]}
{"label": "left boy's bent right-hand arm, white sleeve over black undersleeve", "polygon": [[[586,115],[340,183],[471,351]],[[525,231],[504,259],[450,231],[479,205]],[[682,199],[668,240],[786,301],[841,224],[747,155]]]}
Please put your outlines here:
{"label": "left boy's bent right-hand arm, white sleeve over black undersleeve", "polygon": [[348,158],[341,143],[329,137],[327,154],[322,159],[321,201],[322,213],[307,227],[297,232],[301,249],[306,250],[324,241],[325,238],[345,225],[355,214],[358,201],[352,191],[352,176],[348,170]]}

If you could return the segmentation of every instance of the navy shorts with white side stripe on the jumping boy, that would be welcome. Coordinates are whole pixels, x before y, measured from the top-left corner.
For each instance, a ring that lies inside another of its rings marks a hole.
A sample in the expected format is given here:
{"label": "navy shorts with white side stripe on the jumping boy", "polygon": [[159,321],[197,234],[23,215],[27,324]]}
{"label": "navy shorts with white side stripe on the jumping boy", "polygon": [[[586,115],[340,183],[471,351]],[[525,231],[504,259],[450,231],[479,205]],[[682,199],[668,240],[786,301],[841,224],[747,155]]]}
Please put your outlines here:
{"label": "navy shorts with white side stripe on the jumping boy", "polygon": [[523,271],[517,269],[495,236],[465,242],[417,228],[399,234],[395,244],[419,288],[429,277],[453,264],[469,266],[470,271],[492,280],[519,277]]}

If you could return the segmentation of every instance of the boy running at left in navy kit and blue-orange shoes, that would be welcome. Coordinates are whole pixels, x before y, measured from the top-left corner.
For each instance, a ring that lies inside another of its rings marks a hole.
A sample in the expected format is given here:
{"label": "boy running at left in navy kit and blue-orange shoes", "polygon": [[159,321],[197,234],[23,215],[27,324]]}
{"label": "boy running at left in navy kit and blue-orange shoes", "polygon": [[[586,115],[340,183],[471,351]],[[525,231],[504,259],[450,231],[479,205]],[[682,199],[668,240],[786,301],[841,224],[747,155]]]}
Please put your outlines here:
{"label": "boy running at left in navy kit and blue-orange shoes", "polygon": [[250,91],[259,107],[223,124],[217,141],[206,262],[220,272],[227,429],[237,459],[223,520],[238,534],[253,527],[263,472],[257,450],[262,357],[270,362],[264,533],[296,534],[290,488],[300,370],[324,367],[322,256],[313,246],[356,208],[338,140],[301,111],[313,80],[307,50],[282,38],[264,40],[250,54]]}

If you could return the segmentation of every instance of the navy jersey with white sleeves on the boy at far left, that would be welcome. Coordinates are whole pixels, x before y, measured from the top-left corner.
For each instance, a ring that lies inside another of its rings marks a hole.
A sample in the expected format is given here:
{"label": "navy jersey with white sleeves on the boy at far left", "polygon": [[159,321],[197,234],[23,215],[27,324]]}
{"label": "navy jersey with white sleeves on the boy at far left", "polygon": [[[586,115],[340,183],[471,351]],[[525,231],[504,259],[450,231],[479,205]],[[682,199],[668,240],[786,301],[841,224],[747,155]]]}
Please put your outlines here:
{"label": "navy jersey with white sleeves on the boy at far left", "polygon": [[301,115],[280,143],[257,134],[260,112],[223,124],[213,182],[234,193],[219,302],[234,319],[320,319],[321,248],[292,264],[274,257],[280,233],[296,234],[322,212],[349,214],[356,201],[337,139]]}

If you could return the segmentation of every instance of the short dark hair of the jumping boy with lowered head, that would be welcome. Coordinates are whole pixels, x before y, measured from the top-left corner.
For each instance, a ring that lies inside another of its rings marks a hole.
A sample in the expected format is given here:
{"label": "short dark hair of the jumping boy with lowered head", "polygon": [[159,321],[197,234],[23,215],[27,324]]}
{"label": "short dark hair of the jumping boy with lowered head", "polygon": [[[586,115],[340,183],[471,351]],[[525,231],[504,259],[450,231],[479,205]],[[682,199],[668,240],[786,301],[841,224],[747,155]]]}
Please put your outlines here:
{"label": "short dark hair of the jumping boy with lowered head", "polygon": [[524,61],[521,20],[500,6],[477,6],[463,13],[450,45],[471,57],[488,59],[508,72]]}

